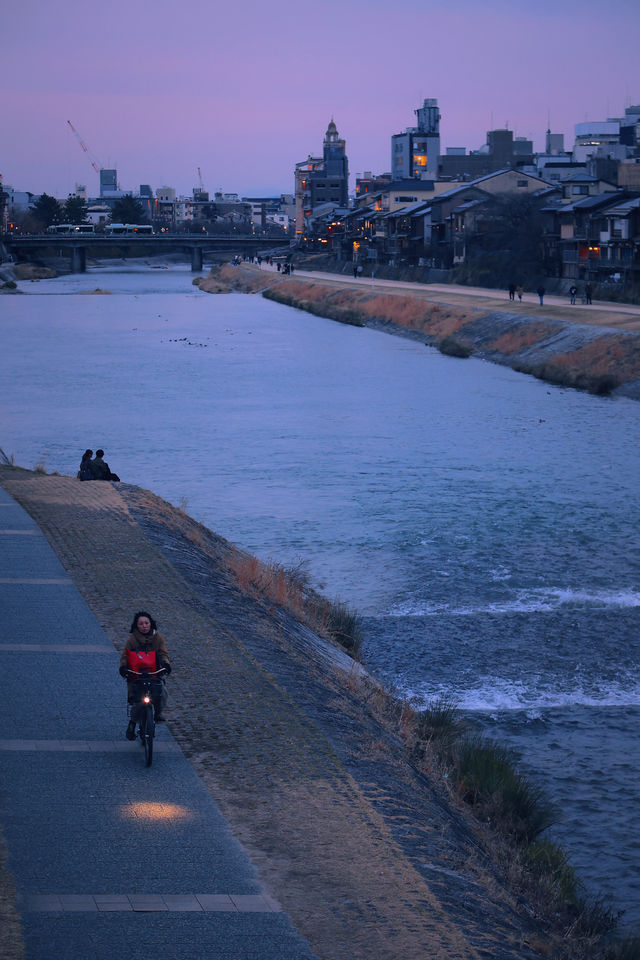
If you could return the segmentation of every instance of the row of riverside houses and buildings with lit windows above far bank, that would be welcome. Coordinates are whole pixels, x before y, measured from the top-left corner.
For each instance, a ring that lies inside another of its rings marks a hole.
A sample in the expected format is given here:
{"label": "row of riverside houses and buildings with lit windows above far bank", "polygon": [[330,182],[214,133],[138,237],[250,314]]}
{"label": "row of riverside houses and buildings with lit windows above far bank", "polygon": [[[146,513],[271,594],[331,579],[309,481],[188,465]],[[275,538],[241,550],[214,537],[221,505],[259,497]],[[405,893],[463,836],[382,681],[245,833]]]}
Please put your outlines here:
{"label": "row of riverside houses and buildings with lit windows above far bank", "polygon": [[[545,153],[534,154],[531,141],[500,130],[487,134],[486,148],[454,149],[437,163],[437,101],[425,100],[415,112],[419,127],[392,137],[392,169],[403,176],[366,173],[351,205],[340,183],[347,176],[345,141],[331,122],[324,157],[296,166],[303,248],[362,267],[450,271],[495,248],[505,223],[522,220],[524,211],[545,276],[640,286],[640,107],[627,108],[624,120],[577,124],[570,153],[561,134],[547,131]],[[331,178],[327,148],[336,144],[342,168],[334,162]]]}

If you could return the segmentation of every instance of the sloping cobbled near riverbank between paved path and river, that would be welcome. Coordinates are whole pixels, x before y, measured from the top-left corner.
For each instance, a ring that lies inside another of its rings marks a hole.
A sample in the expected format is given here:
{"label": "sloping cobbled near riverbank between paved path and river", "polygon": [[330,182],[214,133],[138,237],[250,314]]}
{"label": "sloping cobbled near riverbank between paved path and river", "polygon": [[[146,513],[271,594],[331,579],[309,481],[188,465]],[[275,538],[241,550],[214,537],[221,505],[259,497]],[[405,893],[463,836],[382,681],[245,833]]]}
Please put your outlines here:
{"label": "sloping cobbled near riverbank between paved path and river", "polygon": [[406,705],[268,598],[246,554],[139,487],[12,467],[0,484],[118,649],[153,608],[171,730],[318,956],[601,955],[565,939],[575,916],[542,918],[521,858],[416,758]]}

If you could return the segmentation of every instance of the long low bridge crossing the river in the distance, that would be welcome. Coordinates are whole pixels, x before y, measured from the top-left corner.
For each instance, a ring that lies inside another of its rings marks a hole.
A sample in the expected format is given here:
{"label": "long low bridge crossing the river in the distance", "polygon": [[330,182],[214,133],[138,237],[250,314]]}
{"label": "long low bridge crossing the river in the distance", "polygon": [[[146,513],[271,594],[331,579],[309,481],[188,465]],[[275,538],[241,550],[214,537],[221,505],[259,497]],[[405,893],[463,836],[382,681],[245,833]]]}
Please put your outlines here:
{"label": "long low bridge crossing the river in the distance", "polygon": [[0,234],[0,244],[16,260],[29,260],[34,257],[67,255],[71,261],[72,273],[84,273],[87,269],[87,256],[157,257],[167,253],[184,253],[191,259],[191,270],[202,270],[205,254],[230,258],[235,254],[257,256],[261,252],[288,248],[291,241],[281,237],[241,236],[199,236],[197,234],[159,234],[146,237],[107,237],[100,234],[79,236],[51,236],[49,234],[31,234],[12,236]]}

